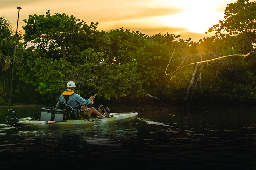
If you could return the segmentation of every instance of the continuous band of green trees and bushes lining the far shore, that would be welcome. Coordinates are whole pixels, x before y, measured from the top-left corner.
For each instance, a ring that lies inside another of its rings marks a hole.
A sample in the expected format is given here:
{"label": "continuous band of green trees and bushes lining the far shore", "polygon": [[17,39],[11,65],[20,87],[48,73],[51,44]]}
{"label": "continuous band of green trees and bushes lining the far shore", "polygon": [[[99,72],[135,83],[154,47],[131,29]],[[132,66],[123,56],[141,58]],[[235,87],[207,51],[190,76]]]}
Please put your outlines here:
{"label": "continuous band of green trees and bushes lining the far shore", "polygon": [[[256,2],[248,0],[228,4],[225,19],[206,30],[216,32],[215,36],[198,42],[171,33],[98,31],[98,22],[87,24],[73,15],[51,15],[49,10],[46,15],[29,15],[24,20],[25,34],[18,34],[11,102],[55,104],[66,83],[74,81],[81,97],[97,93],[95,100],[101,103],[253,105],[255,7]],[[0,105],[6,105],[15,33],[4,17],[0,17],[0,28]],[[186,66],[205,60],[212,61]]]}

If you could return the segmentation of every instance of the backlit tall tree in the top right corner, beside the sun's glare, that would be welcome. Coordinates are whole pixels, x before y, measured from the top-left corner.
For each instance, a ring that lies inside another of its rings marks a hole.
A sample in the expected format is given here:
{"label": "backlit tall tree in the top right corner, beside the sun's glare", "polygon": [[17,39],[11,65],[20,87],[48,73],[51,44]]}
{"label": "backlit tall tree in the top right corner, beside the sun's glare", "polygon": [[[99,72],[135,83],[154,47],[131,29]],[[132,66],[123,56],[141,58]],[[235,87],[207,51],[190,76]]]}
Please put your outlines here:
{"label": "backlit tall tree in the top right corner, beside the sun's glare", "polygon": [[256,43],[256,2],[248,1],[238,0],[228,4],[224,11],[224,20],[213,25],[205,33],[217,31],[216,34],[221,34],[221,31],[225,31],[232,36],[238,36],[242,40],[240,43],[244,49],[247,49],[244,53],[253,50]]}

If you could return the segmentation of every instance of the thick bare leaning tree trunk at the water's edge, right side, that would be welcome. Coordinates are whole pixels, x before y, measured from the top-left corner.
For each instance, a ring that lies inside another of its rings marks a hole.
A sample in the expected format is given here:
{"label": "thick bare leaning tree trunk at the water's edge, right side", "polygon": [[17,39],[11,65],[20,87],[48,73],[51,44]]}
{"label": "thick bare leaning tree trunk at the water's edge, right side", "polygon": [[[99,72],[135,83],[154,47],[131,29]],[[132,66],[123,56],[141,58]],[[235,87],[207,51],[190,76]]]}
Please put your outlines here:
{"label": "thick bare leaning tree trunk at the water's edge, right side", "polygon": [[187,90],[187,93],[186,93],[186,96],[185,96],[185,99],[183,101],[183,105],[185,107],[188,107],[189,104],[190,104],[190,100],[192,98],[192,95],[194,93],[194,90],[196,88],[196,85],[197,85],[197,80],[200,76],[200,73],[202,71],[202,68],[203,68],[203,65],[202,63],[197,63],[196,67],[195,67],[195,70],[194,70],[194,73],[193,73],[193,76],[192,76],[192,79],[190,81],[190,85],[189,85],[189,88]]}

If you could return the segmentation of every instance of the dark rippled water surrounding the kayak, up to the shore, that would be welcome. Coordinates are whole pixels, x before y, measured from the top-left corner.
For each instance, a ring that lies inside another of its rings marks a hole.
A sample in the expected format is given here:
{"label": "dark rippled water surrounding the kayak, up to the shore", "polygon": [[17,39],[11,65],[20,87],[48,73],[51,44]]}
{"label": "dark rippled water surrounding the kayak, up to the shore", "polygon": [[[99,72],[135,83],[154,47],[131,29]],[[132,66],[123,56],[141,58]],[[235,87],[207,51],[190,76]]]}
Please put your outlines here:
{"label": "dark rippled water surrounding the kayak, up to the shore", "polygon": [[[40,107],[15,109],[23,118]],[[115,106],[139,113],[137,124],[66,130],[16,130],[5,125],[7,109],[0,107],[0,169],[256,169],[254,107]]]}

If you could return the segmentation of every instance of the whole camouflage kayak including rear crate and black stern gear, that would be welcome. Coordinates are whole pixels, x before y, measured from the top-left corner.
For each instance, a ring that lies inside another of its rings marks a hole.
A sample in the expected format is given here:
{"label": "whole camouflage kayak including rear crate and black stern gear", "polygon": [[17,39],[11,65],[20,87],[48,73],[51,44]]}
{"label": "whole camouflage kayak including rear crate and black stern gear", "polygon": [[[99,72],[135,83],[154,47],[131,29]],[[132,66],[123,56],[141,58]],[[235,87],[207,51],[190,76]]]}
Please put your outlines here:
{"label": "whole camouflage kayak including rear crate and black stern gear", "polygon": [[[137,112],[130,113],[111,113],[108,117],[97,116],[78,119],[65,120],[65,116],[58,109],[42,108],[39,117],[26,117],[22,119],[17,118],[17,110],[9,110],[5,122],[12,127],[30,127],[30,128],[72,128],[72,127],[100,127],[111,126],[126,123],[137,122]],[[51,111],[49,111],[51,110]],[[56,111],[57,110],[57,111]],[[49,113],[50,112],[50,113]],[[54,113],[54,114],[53,114]],[[64,118],[63,118],[64,117]]]}

